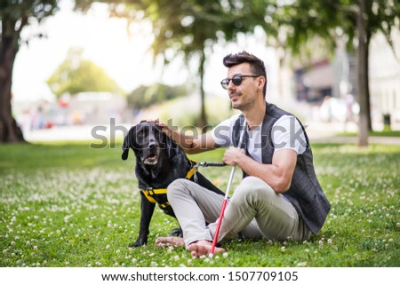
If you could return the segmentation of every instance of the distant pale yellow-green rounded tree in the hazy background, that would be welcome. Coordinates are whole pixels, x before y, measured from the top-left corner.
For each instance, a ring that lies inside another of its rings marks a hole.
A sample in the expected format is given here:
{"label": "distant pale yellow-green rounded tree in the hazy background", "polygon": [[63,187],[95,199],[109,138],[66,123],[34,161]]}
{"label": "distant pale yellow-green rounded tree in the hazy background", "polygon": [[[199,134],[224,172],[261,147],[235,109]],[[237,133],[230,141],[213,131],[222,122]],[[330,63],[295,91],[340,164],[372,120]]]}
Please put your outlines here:
{"label": "distant pale yellow-green rounded tree in the hazy background", "polygon": [[47,80],[51,91],[58,97],[64,93],[74,95],[78,92],[121,93],[117,83],[92,61],[82,58],[83,51],[68,51],[60,67]]}

